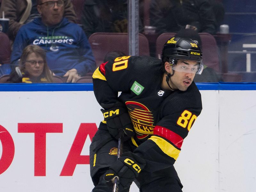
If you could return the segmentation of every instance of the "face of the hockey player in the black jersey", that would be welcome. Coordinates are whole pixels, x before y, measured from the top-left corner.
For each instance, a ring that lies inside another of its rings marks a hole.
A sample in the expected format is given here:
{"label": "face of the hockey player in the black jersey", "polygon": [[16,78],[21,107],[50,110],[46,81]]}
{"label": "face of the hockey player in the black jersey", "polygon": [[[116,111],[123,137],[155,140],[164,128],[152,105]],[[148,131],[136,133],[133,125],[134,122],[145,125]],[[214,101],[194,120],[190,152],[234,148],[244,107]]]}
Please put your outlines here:
{"label": "face of the hockey player in the black jersey", "polygon": [[191,60],[178,60],[177,65],[170,68],[170,73],[173,74],[170,78],[170,86],[173,89],[186,91],[192,83],[199,64]]}

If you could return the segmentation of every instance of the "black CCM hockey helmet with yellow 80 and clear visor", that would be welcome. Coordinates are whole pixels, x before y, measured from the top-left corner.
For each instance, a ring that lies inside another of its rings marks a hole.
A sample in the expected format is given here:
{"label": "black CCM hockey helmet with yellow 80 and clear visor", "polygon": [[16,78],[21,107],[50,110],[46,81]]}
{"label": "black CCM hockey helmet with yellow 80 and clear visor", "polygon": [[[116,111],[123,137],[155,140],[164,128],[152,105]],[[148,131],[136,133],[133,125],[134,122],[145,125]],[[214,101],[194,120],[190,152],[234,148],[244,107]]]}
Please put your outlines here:
{"label": "black CCM hockey helmet with yellow 80 and clear visor", "polygon": [[172,37],[163,47],[162,61],[165,58],[169,59],[171,66],[176,64],[179,59],[198,61],[199,67],[196,74],[201,74],[203,71],[202,52],[197,43],[191,39]]}

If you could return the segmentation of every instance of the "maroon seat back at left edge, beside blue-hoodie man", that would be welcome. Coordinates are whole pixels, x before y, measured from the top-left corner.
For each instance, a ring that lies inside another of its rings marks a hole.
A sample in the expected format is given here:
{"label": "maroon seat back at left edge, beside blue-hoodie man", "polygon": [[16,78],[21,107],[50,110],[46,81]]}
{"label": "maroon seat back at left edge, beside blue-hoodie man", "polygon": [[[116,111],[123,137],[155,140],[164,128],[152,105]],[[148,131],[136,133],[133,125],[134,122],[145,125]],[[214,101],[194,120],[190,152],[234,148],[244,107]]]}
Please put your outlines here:
{"label": "maroon seat back at left edge, beside blue-hoodie man", "polygon": [[11,44],[9,37],[0,32],[0,64],[10,64],[11,60]]}

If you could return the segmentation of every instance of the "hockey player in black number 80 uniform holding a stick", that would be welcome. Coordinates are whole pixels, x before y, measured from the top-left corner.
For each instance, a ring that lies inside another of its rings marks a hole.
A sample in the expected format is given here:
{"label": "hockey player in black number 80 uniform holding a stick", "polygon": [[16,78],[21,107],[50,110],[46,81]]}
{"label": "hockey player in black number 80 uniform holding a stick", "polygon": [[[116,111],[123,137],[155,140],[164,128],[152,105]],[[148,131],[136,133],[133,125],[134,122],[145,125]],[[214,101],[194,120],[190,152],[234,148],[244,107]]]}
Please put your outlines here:
{"label": "hockey player in black number 80 uniform holding a stick", "polygon": [[[93,89],[104,121],[90,145],[92,192],[111,192],[116,176],[119,192],[129,191],[132,181],[140,192],[182,191],[173,164],[202,110],[193,82],[202,70],[199,46],[179,37],[164,44],[162,60],[124,56],[95,70]],[[120,130],[123,154],[116,160]]]}

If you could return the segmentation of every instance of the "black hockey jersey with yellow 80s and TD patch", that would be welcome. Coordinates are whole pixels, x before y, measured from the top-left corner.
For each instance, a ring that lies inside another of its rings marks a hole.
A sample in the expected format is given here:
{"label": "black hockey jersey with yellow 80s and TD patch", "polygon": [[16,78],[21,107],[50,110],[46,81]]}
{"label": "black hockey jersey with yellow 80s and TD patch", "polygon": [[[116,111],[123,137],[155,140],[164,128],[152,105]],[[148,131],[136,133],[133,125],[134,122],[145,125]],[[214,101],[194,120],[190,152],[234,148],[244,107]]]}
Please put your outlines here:
{"label": "black hockey jersey with yellow 80s and TD patch", "polygon": [[163,76],[161,60],[140,56],[102,63],[92,76],[102,108],[127,107],[136,133],[133,152],[147,161],[144,169],[149,172],[174,164],[183,139],[202,110],[194,82],[186,91],[168,91],[161,88]]}

